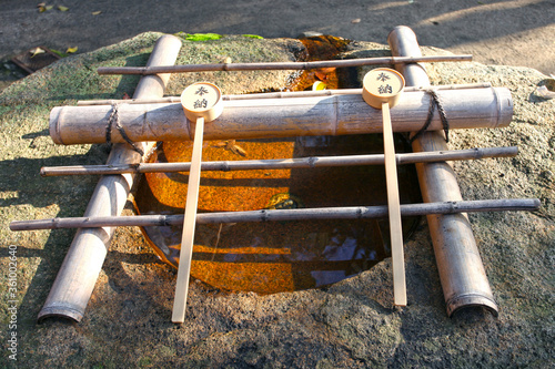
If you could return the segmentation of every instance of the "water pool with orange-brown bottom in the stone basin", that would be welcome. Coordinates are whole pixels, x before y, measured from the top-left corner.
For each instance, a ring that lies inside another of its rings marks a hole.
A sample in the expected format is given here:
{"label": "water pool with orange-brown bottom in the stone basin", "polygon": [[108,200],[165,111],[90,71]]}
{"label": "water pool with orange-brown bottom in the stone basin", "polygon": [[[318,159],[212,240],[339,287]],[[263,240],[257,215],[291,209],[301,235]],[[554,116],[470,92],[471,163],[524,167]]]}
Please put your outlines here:
{"label": "water pool with orange-brown bottom in the stone basin", "polygon": [[[410,145],[401,135],[397,152]],[[150,162],[188,162],[192,142],[164,142]],[[203,161],[383,153],[381,135],[206,141]],[[421,202],[414,166],[398,166],[402,203]],[[188,173],[145,174],[140,214],[183,214]],[[385,205],[383,166],[202,172],[199,213]],[[417,218],[403,219],[406,239]],[[182,227],[143,228],[164,262],[178,266]],[[191,275],[216,288],[260,294],[330,285],[391,256],[387,219],[196,224]]]}

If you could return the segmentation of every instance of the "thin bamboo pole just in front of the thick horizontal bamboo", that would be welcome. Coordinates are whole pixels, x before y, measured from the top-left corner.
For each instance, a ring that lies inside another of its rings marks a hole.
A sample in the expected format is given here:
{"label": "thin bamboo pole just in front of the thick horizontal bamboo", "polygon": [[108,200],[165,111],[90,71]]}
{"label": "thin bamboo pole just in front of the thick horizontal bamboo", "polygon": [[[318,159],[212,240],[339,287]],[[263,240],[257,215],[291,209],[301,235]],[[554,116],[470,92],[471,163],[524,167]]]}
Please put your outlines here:
{"label": "thin bamboo pole just in front of the thick horizontal bamboo", "polygon": [[[425,153],[395,154],[397,165],[414,163],[433,163],[444,161],[481,160],[486,157],[516,156],[517,146],[508,147],[476,147],[453,151],[435,151]],[[371,155],[344,155],[344,156],[310,156],[295,158],[272,158],[251,161],[223,161],[202,162],[202,171],[254,171],[254,170],[289,170],[289,168],[313,168],[326,166],[351,166],[351,165],[383,165],[384,154]],[[98,175],[98,174],[123,174],[123,173],[175,173],[189,172],[191,163],[138,163],[121,165],[74,165],[74,166],[43,166],[40,170],[42,176],[61,175]]]}

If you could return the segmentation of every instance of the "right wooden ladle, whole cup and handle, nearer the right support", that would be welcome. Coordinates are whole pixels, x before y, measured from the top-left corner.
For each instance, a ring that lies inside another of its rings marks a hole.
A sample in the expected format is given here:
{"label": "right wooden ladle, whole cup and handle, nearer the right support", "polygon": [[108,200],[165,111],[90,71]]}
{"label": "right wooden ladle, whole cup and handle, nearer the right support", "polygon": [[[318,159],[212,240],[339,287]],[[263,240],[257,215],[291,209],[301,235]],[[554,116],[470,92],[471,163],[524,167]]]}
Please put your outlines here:
{"label": "right wooden ladle, whole cup and handle, nearer the right support", "polygon": [[387,185],[391,257],[393,265],[393,297],[396,306],[406,306],[406,283],[397,167],[395,163],[395,146],[393,143],[390,107],[393,107],[398,102],[404,86],[405,79],[401,73],[387,68],[377,68],[366,73],[362,89],[364,101],[370,106],[382,110],[385,182]]}

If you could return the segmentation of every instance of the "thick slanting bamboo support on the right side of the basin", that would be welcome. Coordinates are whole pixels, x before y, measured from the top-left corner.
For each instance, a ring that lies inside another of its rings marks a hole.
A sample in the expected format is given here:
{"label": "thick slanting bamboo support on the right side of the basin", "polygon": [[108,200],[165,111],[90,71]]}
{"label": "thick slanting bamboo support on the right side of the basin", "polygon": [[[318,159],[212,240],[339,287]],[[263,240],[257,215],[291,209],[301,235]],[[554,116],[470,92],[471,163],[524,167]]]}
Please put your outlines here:
{"label": "thick slanting bamboo support on the right side of the basin", "polygon": [[[414,32],[407,27],[396,27],[387,41],[395,55],[421,55]],[[406,85],[430,85],[421,64],[396,65]],[[447,113],[450,116],[450,113]],[[471,120],[467,114],[467,120]],[[437,130],[437,129],[435,129]],[[447,150],[443,132],[425,132],[413,143],[415,152]],[[416,164],[422,197],[426,203],[462,199],[456,175],[447,163]],[[447,315],[456,310],[482,306],[497,315],[480,250],[466,215],[427,215],[430,235],[434,245]]]}

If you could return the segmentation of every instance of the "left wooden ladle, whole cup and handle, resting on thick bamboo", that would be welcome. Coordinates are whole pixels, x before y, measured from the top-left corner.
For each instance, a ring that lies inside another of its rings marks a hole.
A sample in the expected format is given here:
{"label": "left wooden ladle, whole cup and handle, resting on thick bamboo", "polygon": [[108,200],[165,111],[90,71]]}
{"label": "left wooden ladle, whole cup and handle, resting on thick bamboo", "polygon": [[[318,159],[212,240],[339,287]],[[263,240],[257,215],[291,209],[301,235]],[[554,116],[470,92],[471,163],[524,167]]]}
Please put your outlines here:
{"label": "left wooden ladle, whole cup and handle, resting on thick bamboo", "polygon": [[222,114],[222,92],[215,84],[209,82],[193,83],[183,90],[181,94],[181,104],[183,105],[183,111],[188,120],[196,122],[196,124],[194,129],[191,168],[189,172],[183,234],[181,236],[178,281],[173,300],[173,322],[183,322],[185,319],[189,276],[191,274],[191,259],[193,255],[194,227],[196,223],[196,206],[199,203],[204,122],[211,122]]}

